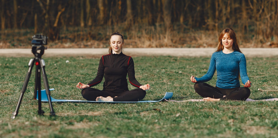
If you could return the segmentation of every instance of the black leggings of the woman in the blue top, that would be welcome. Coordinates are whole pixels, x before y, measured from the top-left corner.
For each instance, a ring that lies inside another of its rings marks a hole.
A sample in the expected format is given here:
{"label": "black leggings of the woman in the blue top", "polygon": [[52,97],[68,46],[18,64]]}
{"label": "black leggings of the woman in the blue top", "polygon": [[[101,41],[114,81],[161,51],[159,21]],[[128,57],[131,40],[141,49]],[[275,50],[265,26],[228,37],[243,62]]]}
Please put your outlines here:
{"label": "black leggings of the woman in the blue top", "polygon": [[[250,96],[250,89],[246,87],[236,88],[219,88],[213,87],[204,82],[197,82],[194,84],[196,93],[206,98],[215,98],[220,100],[246,100]],[[223,97],[225,96],[225,97]]]}

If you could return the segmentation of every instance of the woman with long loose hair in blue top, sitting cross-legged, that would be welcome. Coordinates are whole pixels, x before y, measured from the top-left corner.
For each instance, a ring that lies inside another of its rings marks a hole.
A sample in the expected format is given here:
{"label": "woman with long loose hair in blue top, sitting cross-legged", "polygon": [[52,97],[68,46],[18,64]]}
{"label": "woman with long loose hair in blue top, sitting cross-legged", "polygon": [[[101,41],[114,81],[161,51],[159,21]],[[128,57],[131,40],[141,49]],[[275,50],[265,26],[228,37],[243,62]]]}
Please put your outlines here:
{"label": "woman with long loose hair in blue top, sitting cross-legged", "polygon": [[[191,76],[195,91],[203,100],[246,100],[250,96],[251,81],[247,76],[246,59],[239,50],[237,36],[232,28],[224,29],[216,52],[212,54],[207,74],[201,78]],[[216,86],[207,83],[217,71]],[[240,87],[239,75],[244,87]]]}

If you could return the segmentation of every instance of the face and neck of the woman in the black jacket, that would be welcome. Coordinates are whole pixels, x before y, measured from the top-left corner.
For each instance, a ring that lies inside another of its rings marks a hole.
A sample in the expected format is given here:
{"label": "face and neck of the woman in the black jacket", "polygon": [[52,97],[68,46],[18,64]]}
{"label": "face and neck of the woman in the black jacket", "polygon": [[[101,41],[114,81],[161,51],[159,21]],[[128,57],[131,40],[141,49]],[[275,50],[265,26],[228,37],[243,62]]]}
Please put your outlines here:
{"label": "face and neck of the woman in the black jacket", "polygon": [[121,47],[123,46],[123,40],[120,35],[113,35],[110,39],[110,46],[112,47],[113,54],[120,54]]}

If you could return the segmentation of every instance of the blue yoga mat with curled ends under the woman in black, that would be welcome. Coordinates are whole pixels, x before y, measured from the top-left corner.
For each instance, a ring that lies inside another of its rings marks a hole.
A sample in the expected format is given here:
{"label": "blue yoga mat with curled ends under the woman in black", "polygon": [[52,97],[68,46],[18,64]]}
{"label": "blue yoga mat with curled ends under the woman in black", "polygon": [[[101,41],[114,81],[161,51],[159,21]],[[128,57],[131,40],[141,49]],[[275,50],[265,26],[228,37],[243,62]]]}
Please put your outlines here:
{"label": "blue yoga mat with curled ends under the woman in black", "polygon": [[[50,91],[54,90],[54,88],[49,89]],[[37,91],[38,93],[38,91]],[[51,102],[82,102],[82,103],[154,103],[154,102],[159,102],[165,99],[170,99],[172,98],[173,93],[172,92],[166,92],[165,96],[161,100],[144,100],[144,101],[138,101],[138,102],[104,102],[104,101],[88,101],[88,100],[59,100],[59,99],[54,99],[50,96]],[[38,100],[38,94],[37,94],[37,100]],[[41,101],[42,102],[48,102],[47,95],[45,93],[45,90],[41,90]]]}

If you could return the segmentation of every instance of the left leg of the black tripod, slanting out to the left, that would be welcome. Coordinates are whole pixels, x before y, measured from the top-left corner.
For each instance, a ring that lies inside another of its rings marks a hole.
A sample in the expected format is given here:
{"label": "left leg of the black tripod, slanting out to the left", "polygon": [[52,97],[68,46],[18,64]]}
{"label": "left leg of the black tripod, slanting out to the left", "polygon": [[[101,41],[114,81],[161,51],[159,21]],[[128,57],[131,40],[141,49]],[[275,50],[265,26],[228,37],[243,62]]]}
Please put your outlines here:
{"label": "left leg of the black tripod, slanting out to the left", "polygon": [[29,82],[29,79],[30,79],[30,76],[31,76],[32,68],[34,67],[34,63],[35,63],[35,58],[30,59],[29,64],[28,64],[29,69],[28,69],[28,72],[26,73],[25,80],[24,80],[23,86],[21,88],[21,92],[20,92],[19,100],[18,100],[17,105],[16,105],[16,109],[12,113],[12,116],[11,116],[12,119],[14,119],[18,115],[18,110],[19,110],[23,95],[26,91],[26,88],[27,88],[27,85],[28,85],[28,82]]}

